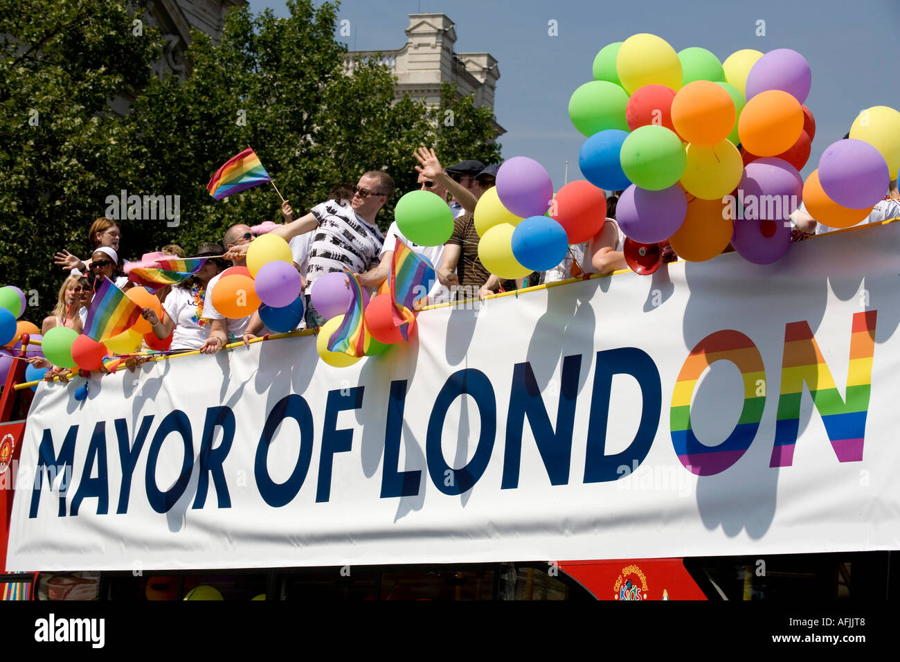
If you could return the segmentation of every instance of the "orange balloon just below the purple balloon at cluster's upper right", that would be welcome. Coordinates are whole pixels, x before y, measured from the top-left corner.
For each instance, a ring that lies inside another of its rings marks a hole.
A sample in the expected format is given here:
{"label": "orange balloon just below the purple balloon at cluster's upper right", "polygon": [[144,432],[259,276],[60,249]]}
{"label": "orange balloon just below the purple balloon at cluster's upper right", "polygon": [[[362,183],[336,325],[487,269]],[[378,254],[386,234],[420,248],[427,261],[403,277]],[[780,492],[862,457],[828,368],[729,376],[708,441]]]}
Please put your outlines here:
{"label": "orange balloon just below the purple balloon at cluster's upper right", "polygon": [[737,121],[744,150],[759,157],[778,156],[790,150],[803,131],[803,108],[792,95],[766,90],[753,96]]}

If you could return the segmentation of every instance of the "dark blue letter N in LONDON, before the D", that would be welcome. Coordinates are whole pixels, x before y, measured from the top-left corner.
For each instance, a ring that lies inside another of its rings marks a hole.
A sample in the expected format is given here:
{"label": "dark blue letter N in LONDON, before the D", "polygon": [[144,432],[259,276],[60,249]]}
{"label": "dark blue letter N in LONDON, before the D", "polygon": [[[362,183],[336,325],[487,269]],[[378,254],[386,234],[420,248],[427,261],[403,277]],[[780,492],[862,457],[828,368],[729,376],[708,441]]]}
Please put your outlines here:
{"label": "dark blue letter N in LONDON, before the D", "polygon": [[531,425],[537,450],[544,461],[551,485],[569,482],[569,466],[572,461],[572,428],[575,424],[575,399],[578,395],[578,378],[581,374],[581,354],[563,360],[563,382],[559,404],[556,407],[556,431],[537,385],[535,371],[530,363],[517,363],[513,368],[512,390],[509,394],[506,447],[503,454],[502,489],[518,487],[518,471],[522,459],[522,430],[525,418]]}

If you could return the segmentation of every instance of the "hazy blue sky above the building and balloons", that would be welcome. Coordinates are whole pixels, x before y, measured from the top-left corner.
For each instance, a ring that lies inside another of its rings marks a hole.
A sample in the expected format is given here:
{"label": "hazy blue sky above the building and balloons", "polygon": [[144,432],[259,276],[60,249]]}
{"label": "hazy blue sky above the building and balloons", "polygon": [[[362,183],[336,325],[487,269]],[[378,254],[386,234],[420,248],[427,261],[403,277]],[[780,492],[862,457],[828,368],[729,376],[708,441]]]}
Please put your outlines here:
{"label": "hazy blue sky above the building and balloons", "polygon": [[[249,5],[288,14],[284,2]],[[494,113],[507,130],[500,137],[504,159],[536,159],[556,188],[566,161],[568,180],[582,178],[578,152],[585,139],[569,120],[572,92],[592,80],[601,48],[639,32],[675,50],[703,47],[720,61],[742,49],[800,52],[813,72],[806,106],[816,122],[805,178],[861,110],[900,110],[900,0],[345,0],[338,18],[350,21],[351,34],[335,36],[350,50],[395,50],[406,42],[407,14],[434,12],[455,23],[456,52],[487,51],[499,62]],[[549,34],[551,21],[556,36]],[[758,26],[764,35],[757,36]]]}

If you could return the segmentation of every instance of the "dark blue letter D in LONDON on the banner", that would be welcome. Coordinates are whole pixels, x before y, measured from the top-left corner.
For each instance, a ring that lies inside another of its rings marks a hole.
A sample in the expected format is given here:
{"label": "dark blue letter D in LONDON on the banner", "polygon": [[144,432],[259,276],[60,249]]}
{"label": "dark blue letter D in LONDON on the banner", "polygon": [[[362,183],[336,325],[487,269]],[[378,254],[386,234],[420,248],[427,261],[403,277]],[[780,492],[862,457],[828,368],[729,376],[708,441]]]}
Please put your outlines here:
{"label": "dark blue letter D in LONDON on the banner", "polygon": [[[609,396],[612,391],[613,375],[631,375],[641,386],[644,407],[635,439],[628,448],[615,455],[605,455],[607,445],[607,423],[609,419]],[[662,406],[662,382],[660,371],[653,358],[643,349],[623,347],[597,352],[597,366],[594,368],[594,392],[590,397],[590,419],[588,422],[587,456],[584,461],[584,482],[603,483],[621,478],[617,467],[636,467],[644,461],[656,429],[660,426]]]}

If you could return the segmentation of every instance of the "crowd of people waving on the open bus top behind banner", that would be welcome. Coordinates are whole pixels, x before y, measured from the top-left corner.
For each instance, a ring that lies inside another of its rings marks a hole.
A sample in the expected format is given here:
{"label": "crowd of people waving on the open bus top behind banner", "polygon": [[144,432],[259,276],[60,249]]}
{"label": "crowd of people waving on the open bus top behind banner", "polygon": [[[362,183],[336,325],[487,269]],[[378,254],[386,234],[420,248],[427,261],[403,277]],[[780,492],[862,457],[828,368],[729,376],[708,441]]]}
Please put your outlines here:
{"label": "crowd of people waving on the open bus top behind banner", "polygon": [[[215,354],[229,342],[247,343],[269,332],[258,312],[242,319],[227,318],[216,310],[211,298],[226,268],[245,266],[247,248],[261,231],[270,231],[290,243],[293,266],[302,277],[306,303],[305,316],[298,328],[320,327],[327,321],[310,298],[311,288],[319,277],[347,270],[362,286],[381,286],[388,277],[398,240],[428,258],[435,267],[437,280],[428,293],[428,304],[483,298],[499,291],[627,268],[623,252],[626,238],[615,220],[617,195],[614,194],[608,198],[608,218],[599,233],[590,241],[572,245],[557,267],[517,281],[491,274],[478,257],[480,238],[475,231],[473,213],[484,192],[495,186],[500,166],[469,159],[444,168],[435,151],[426,148],[419,148],[414,156],[419,162],[416,166],[419,190],[438,195],[454,216],[453,233],[444,245],[419,246],[403,235],[396,222],[390,224],[385,234],[379,230],[376,216],[391,199],[394,184],[387,173],[370,170],[356,185],[335,186],[326,202],[315,205],[299,218],[285,201],[281,208],[283,224],[266,222],[250,227],[238,223],[225,231],[221,244],[202,243],[191,257],[206,258],[203,267],[181,283],[157,292],[163,313],[143,308],[141,314],[151,325],[153,335],[160,340],[172,335],[171,350],[199,349],[204,354]],[[876,205],[863,223],[898,216],[900,194],[895,180],[885,200]],[[800,236],[829,230],[815,222],[802,206],[791,220]],[[122,290],[135,286],[126,276],[118,254],[120,241],[121,226],[99,218],[88,231],[92,251],[89,259],[82,260],[67,250],[56,254],[56,264],[67,269],[69,276],[59,288],[56,307],[41,325],[43,333],[57,326],[81,332],[94,293],[104,278]],[[184,258],[185,251],[170,244],[157,255]],[[35,358],[32,363],[40,366],[45,360]]]}

